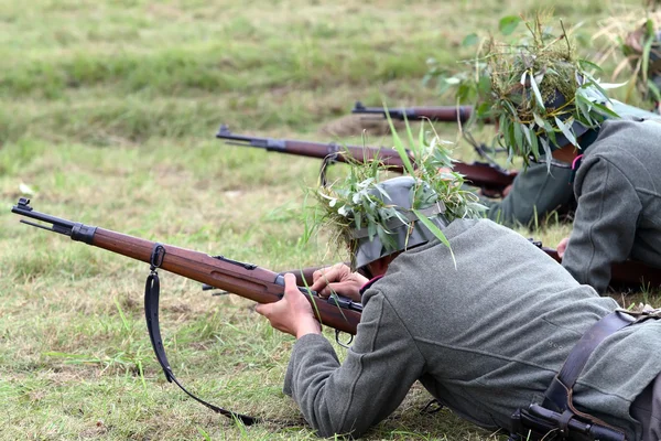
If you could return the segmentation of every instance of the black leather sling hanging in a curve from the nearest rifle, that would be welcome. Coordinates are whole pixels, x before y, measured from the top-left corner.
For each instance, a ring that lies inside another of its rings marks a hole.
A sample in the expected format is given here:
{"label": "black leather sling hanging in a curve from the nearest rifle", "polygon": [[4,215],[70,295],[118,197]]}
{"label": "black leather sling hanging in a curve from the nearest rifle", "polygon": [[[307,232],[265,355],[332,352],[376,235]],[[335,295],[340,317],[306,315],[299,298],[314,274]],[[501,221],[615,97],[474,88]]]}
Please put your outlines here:
{"label": "black leather sling hanging in a curve from the nearest rifle", "polygon": [[156,359],[159,364],[163,368],[163,373],[165,374],[165,378],[167,381],[176,384],[186,395],[188,395],[194,400],[203,404],[208,407],[216,413],[224,415],[228,418],[237,419],[241,421],[246,426],[250,426],[258,420],[253,417],[248,417],[246,415],[236,413],[231,410],[223,409],[218,406],[214,406],[205,400],[197,398],[195,395],[191,394],[188,390],[182,386],[181,383],[174,376],[172,368],[170,367],[170,362],[167,362],[167,356],[165,355],[165,347],[163,346],[163,340],[161,338],[161,327],[159,326],[159,295],[161,291],[161,282],[159,281],[159,273],[156,271],[158,268],[163,263],[163,257],[165,256],[165,247],[161,244],[155,244],[150,258],[150,275],[147,278],[147,283],[144,286],[144,314],[147,316],[147,330],[149,331],[149,338],[151,340],[152,347],[154,348],[154,353],[156,354]]}

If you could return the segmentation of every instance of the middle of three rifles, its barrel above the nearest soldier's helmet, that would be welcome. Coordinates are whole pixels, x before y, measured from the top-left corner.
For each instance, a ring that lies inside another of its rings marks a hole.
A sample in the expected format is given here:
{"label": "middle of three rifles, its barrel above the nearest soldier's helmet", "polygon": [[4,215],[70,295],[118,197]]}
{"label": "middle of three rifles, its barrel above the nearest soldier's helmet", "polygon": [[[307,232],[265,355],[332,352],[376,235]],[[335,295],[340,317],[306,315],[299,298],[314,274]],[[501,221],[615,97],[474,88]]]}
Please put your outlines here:
{"label": "middle of three rifles, its barrel above the nearest soldier's helmet", "polygon": [[[403,172],[404,164],[399,152],[394,149],[342,146],[338,143],[323,143],[312,141],[296,141],[275,138],[257,138],[245,135],[232,133],[225,125],[220,126],[216,138],[225,139],[228,144],[258,147],[267,151],[296,154],[300,157],[330,159],[336,162],[348,162],[350,160],[372,161],[378,160],[392,171]],[[344,154],[343,154],[344,153]],[[410,157],[413,161],[413,158]],[[454,170],[462,173],[469,184],[478,186],[488,196],[498,196],[512,183],[517,173],[502,169],[497,164],[485,162],[473,162],[470,164],[457,161]]]}

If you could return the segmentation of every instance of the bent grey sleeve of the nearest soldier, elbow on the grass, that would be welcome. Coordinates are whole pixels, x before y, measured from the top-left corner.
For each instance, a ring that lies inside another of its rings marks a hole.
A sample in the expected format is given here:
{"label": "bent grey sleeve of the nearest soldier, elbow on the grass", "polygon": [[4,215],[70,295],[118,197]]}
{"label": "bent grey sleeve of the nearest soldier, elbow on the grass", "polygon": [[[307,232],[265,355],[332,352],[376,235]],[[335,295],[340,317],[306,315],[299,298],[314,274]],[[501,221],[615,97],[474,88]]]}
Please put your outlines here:
{"label": "bent grey sleeve of the nearest soldier, elbow on the grass", "polygon": [[294,345],[284,392],[322,437],[359,437],[392,413],[422,375],[424,359],[382,294],[362,312],[340,365],[330,343],[310,334]]}

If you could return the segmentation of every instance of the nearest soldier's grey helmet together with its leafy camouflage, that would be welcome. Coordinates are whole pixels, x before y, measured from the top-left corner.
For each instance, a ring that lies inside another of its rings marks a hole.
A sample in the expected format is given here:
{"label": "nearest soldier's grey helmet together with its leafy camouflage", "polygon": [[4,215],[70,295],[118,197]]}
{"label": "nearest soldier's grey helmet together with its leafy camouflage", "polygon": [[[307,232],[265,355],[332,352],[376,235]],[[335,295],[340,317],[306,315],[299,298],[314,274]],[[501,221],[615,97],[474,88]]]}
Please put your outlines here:
{"label": "nearest soldier's grey helmet together with its leafy camouflage", "polygon": [[393,132],[404,176],[387,179],[387,165],[355,161],[345,180],[314,192],[318,204],[308,237],[312,230],[327,227],[330,243],[350,250],[354,269],[434,237],[449,246],[442,228],[455,218],[478,217],[486,209],[475,194],[464,190],[460,174],[444,170],[453,162],[446,142],[435,133],[427,137],[423,127],[414,140],[407,129],[410,151]]}

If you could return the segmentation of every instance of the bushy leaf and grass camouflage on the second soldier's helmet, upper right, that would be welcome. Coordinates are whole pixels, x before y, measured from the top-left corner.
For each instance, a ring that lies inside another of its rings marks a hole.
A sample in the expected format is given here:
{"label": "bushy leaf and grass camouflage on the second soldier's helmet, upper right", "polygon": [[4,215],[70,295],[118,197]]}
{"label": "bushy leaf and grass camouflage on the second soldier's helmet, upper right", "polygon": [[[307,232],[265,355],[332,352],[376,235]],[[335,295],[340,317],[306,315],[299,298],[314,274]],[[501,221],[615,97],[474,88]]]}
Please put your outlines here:
{"label": "bushy leaf and grass camouflage on the second soldier's helmet, upper right", "polygon": [[575,57],[562,21],[560,35],[542,21],[535,15],[524,22],[528,39],[520,44],[491,40],[485,56],[491,88],[478,107],[498,122],[499,143],[525,165],[566,144],[581,148],[583,133],[617,117],[606,106],[604,87],[586,71],[598,66]]}

